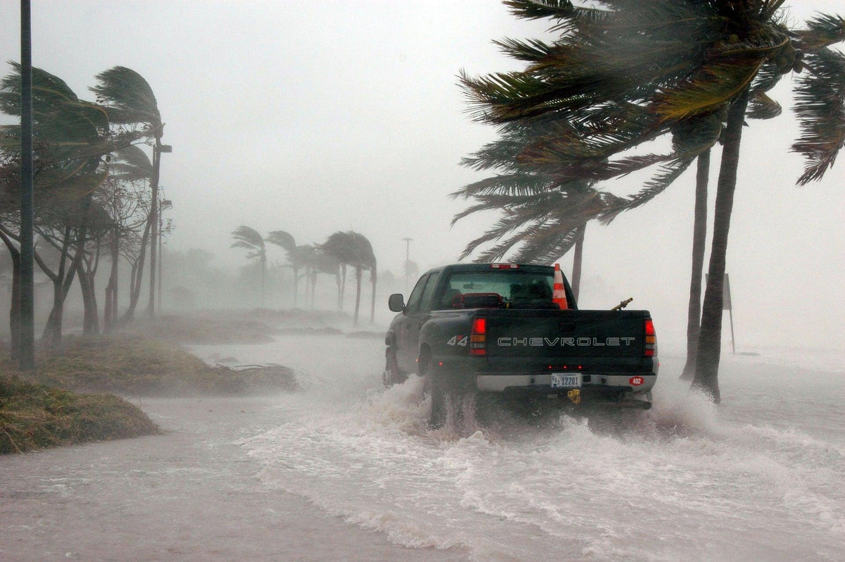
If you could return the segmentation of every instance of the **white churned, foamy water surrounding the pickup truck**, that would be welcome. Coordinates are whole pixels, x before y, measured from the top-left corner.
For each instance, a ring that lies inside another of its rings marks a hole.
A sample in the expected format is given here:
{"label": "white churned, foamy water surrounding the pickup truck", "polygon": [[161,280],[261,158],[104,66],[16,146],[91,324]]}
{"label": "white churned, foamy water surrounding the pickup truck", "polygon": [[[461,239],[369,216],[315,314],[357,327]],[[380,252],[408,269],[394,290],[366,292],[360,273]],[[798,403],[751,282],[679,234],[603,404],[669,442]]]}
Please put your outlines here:
{"label": "white churned, foamy water surrounding the pickup truck", "polygon": [[311,344],[214,347],[285,363],[306,386],[243,449],[265,486],[395,543],[483,560],[845,554],[842,373],[801,371],[799,384],[726,360],[714,406],[673,378],[682,361],[668,357],[649,412],[481,399],[432,431],[423,379],[380,387],[380,341]]}

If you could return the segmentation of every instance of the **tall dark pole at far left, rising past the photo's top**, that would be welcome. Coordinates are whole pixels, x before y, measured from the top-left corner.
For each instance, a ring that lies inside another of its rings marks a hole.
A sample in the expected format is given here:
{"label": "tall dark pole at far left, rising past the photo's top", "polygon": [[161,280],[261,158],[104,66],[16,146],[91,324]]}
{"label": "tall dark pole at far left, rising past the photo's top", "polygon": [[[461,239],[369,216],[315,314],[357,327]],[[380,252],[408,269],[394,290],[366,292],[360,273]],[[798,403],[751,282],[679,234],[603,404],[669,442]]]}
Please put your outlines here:
{"label": "tall dark pole at far left, rising past the photo's top", "polygon": [[19,367],[21,370],[35,368],[32,206],[32,25],[30,0],[20,0]]}

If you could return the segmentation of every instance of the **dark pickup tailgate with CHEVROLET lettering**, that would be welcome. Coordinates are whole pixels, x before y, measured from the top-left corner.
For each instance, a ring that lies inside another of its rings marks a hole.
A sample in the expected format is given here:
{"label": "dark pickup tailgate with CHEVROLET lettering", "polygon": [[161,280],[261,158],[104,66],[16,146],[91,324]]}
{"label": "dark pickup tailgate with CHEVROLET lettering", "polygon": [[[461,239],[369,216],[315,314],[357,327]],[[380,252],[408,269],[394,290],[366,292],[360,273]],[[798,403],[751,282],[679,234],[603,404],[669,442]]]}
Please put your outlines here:
{"label": "dark pickup tailgate with CHEVROLET lettering", "polygon": [[[644,361],[643,310],[491,309],[488,369],[636,371]],[[651,358],[648,359],[651,366]]]}

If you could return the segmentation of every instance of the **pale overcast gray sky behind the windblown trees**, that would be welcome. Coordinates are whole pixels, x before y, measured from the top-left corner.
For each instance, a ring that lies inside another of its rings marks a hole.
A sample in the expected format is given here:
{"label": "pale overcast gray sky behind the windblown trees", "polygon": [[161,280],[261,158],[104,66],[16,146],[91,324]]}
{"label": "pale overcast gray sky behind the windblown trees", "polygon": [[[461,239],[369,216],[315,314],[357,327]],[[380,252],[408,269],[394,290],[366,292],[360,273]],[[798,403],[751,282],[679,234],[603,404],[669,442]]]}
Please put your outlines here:
{"label": "pale overcast gray sky behind the windblown trees", "polygon": [[[18,4],[0,3],[3,60],[19,60]],[[495,138],[466,115],[455,76],[519,68],[491,41],[546,27],[496,0],[33,4],[33,63],[80,97],[92,99],[95,74],[115,65],[150,82],[173,146],[161,172],[175,205],[170,244],[232,268],[243,265],[229,249],[242,224],[297,243],[354,229],[395,272],[403,237],[423,268],[454,261],[495,219],[449,226],[464,204],[447,194],[481,177],[458,162]],[[815,10],[845,15],[845,0],[788,5],[796,22]],[[773,93],[784,107],[791,85]],[[728,249],[739,344],[845,348],[845,156],[822,182],[795,187],[803,163],[788,151],[791,112],[750,124]],[[633,296],[666,340],[683,341],[693,175],[610,226],[589,226],[582,306]],[[632,193],[643,179],[606,187]]]}

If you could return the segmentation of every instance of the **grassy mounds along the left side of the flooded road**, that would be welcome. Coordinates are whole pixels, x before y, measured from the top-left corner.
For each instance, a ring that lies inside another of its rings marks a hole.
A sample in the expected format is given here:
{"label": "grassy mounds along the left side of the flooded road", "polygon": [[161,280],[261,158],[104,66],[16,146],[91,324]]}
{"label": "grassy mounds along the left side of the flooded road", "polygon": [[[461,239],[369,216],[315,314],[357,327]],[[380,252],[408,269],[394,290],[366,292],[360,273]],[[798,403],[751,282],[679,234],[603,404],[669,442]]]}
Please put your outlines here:
{"label": "grassy mounds along the left side of the flooded road", "polygon": [[[216,320],[216,321],[214,321]],[[128,400],[140,396],[247,396],[298,390],[282,365],[212,367],[180,344],[264,343],[260,320],[166,316],[103,336],[65,336],[19,372],[0,343],[0,454],[161,434]]]}

